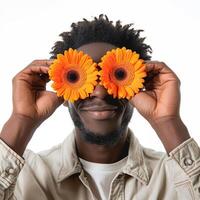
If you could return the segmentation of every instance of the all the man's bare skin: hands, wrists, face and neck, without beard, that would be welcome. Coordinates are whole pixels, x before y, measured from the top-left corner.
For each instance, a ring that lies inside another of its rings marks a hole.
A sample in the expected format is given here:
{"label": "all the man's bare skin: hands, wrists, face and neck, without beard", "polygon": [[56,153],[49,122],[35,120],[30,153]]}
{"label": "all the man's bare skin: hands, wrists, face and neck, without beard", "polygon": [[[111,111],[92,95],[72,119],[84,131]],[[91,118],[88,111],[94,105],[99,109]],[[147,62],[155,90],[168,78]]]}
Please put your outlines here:
{"label": "all the man's bare skin: hands, wrists, face and neck, without beard", "polygon": [[[91,43],[80,47],[95,61],[107,50],[114,46],[107,43]],[[13,78],[13,112],[5,123],[0,138],[14,151],[22,155],[37,127],[46,120],[63,99],[55,93],[46,91],[45,78],[51,60],[36,60],[19,72]],[[93,119],[86,112],[78,108],[78,104],[64,104],[80,116],[85,127],[96,135],[106,135],[118,129],[122,124],[128,105],[136,108],[150,123],[169,153],[182,142],[190,138],[188,130],[181,120],[180,107],[180,80],[176,74],[163,62],[146,61],[148,78],[146,90],[135,95],[129,102],[121,106],[121,112],[114,117],[100,120],[100,112],[92,113]],[[39,74],[44,76],[41,78]],[[153,76],[152,76],[153,74]],[[151,76],[150,76],[151,75]],[[105,103],[108,98],[107,91],[100,85],[95,87],[91,99],[95,102]],[[83,102],[88,102],[87,99]],[[110,116],[110,115],[108,115]],[[105,115],[104,115],[105,117]],[[108,117],[107,117],[108,118]],[[86,142],[76,128],[76,145],[80,157],[99,163],[112,163],[127,155],[127,129],[112,145],[96,145]]]}

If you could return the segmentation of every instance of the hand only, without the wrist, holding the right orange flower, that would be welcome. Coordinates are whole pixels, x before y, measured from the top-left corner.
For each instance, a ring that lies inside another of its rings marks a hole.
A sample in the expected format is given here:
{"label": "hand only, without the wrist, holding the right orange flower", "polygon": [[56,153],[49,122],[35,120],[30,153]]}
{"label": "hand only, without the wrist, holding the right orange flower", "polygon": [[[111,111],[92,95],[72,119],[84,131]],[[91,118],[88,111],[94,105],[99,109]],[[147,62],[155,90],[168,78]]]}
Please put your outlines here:
{"label": "hand only, without the wrist, holding the right orange flower", "polygon": [[146,62],[145,91],[136,94],[131,104],[150,123],[161,118],[179,117],[180,80],[163,62]]}

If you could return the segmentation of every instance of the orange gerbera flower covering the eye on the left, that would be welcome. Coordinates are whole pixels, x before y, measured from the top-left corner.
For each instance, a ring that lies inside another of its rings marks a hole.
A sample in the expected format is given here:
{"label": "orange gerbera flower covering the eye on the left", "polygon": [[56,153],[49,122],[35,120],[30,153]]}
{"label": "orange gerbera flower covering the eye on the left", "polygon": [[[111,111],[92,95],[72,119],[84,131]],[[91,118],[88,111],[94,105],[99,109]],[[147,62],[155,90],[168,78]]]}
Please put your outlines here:
{"label": "orange gerbera flower covering the eye on the left", "polygon": [[97,85],[98,70],[92,58],[82,51],[69,49],[58,54],[49,69],[52,88],[58,96],[74,102],[85,99]]}

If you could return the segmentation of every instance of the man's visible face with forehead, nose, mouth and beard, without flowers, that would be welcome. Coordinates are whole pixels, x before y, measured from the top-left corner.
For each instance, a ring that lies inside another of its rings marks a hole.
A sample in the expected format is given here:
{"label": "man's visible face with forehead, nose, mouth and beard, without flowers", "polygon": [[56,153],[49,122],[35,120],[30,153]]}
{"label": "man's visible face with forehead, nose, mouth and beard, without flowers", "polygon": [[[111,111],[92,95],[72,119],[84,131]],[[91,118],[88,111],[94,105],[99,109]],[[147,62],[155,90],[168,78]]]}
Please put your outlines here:
{"label": "man's visible face with forehead, nose, mouth and beard, without flowers", "polygon": [[[98,63],[108,50],[114,49],[108,43],[90,43],[78,50],[88,54]],[[126,99],[113,98],[107,90],[97,85],[90,97],[68,104],[71,118],[81,137],[87,142],[99,145],[115,144],[127,129],[133,107]]]}

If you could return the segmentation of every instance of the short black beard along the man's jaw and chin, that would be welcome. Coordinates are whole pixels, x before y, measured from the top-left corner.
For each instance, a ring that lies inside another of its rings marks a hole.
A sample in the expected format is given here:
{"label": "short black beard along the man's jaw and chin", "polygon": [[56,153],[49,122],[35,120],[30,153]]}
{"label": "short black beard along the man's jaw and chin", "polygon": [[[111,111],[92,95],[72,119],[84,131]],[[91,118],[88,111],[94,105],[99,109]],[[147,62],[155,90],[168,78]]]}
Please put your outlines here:
{"label": "short black beard along the man's jaw and chin", "polygon": [[99,135],[98,133],[92,132],[84,126],[80,116],[71,105],[69,105],[68,109],[75,127],[77,127],[80,131],[81,138],[88,143],[97,145],[116,144],[126,132],[126,129],[133,114],[133,107],[129,103],[127,103],[120,128],[116,128],[116,130],[114,131]]}

